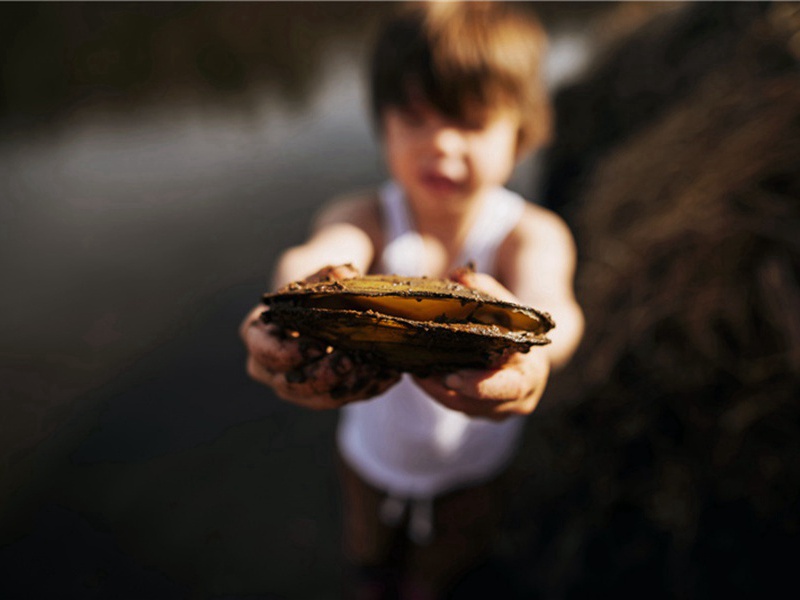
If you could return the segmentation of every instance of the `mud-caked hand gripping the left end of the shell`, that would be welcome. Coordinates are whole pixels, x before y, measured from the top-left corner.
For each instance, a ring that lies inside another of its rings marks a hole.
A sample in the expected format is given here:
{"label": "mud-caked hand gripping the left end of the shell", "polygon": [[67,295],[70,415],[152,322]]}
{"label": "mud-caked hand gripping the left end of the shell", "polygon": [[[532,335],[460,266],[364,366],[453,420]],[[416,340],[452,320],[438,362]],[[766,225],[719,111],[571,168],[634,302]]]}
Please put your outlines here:
{"label": "mud-caked hand gripping the left end of the shell", "polygon": [[[306,281],[358,275],[349,265],[326,267]],[[336,408],[380,394],[399,379],[399,373],[264,322],[261,315],[265,310],[253,309],[239,332],[247,348],[248,375],[273,388],[281,398],[308,408]]]}

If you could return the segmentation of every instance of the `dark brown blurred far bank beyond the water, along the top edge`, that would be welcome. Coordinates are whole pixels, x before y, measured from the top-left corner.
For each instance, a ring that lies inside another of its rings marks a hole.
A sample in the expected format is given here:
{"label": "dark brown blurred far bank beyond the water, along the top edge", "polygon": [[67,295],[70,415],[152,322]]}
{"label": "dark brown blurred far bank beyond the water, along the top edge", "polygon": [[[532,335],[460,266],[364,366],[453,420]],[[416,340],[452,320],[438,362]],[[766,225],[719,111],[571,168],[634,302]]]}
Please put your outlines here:
{"label": "dark brown blurred far bank beyond the water, along the top edge", "polygon": [[[332,42],[364,43],[392,4],[0,3],[0,125],[58,118],[81,104],[235,104],[267,85],[302,103]],[[552,24],[585,22],[616,3],[534,4]]]}

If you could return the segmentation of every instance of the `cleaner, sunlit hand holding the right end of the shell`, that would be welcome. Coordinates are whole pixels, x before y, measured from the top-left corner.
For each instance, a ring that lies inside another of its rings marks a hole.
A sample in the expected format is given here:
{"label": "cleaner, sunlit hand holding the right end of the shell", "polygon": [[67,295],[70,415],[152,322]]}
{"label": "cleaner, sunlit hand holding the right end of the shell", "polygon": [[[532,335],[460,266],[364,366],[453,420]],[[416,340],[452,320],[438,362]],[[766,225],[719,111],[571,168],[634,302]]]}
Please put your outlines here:
{"label": "cleaner, sunlit hand holding the right end of the shell", "polygon": [[[451,279],[501,300],[519,300],[493,277],[459,269]],[[489,369],[464,369],[444,375],[415,378],[417,384],[444,406],[473,417],[503,420],[533,412],[544,393],[550,361],[540,347],[514,352]]]}

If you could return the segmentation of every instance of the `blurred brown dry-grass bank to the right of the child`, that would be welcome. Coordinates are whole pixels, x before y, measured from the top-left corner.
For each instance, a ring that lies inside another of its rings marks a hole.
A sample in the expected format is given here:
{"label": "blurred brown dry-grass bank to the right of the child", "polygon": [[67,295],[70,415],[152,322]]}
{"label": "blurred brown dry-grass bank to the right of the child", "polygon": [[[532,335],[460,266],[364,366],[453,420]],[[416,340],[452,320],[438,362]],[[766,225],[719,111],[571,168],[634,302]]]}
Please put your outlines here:
{"label": "blurred brown dry-grass bank to the right of the child", "polygon": [[587,330],[524,457],[515,528],[544,597],[793,583],[798,32],[796,4],[693,4],[556,101]]}

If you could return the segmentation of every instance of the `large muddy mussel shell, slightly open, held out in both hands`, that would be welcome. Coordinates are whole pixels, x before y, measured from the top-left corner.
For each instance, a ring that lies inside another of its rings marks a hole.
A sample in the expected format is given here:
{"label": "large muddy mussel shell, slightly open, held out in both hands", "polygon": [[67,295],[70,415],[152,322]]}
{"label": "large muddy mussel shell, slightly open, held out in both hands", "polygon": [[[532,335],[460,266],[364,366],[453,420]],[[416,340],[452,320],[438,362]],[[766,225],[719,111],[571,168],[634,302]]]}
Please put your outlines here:
{"label": "large muddy mussel shell, slightly open, held out in both hands", "polygon": [[555,326],[545,312],[426,277],[292,283],[263,300],[265,319],[286,329],[421,375],[489,366],[549,343]]}

